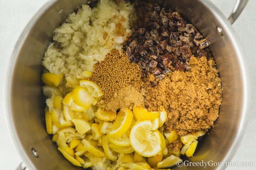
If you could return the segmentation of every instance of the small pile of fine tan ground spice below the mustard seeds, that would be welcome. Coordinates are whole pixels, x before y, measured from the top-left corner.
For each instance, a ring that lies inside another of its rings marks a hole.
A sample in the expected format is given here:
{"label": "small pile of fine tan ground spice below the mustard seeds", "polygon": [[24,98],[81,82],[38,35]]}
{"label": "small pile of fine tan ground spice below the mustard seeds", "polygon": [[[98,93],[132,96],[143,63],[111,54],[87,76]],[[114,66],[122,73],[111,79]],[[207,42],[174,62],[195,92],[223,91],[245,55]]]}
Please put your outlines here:
{"label": "small pile of fine tan ground spice below the mustard seeds", "polygon": [[[98,103],[100,105],[101,102]],[[133,85],[128,85],[115,93],[112,100],[101,107],[116,112],[117,109],[127,107],[132,109],[134,105],[144,106],[143,95],[135,89]]]}

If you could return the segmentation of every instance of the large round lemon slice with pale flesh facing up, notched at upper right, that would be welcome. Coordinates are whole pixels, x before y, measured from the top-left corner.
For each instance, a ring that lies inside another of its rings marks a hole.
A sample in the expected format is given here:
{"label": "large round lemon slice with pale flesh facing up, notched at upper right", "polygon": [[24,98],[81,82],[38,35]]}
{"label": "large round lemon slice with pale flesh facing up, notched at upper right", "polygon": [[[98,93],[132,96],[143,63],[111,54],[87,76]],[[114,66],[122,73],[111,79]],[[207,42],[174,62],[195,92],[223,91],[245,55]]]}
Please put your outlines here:
{"label": "large round lemon slice with pale flesh facing up, notched at upper right", "polygon": [[150,120],[135,124],[130,132],[130,144],[134,151],[144,157],[153,157],[161,152],[161,137],[158,132],[151,131]]}

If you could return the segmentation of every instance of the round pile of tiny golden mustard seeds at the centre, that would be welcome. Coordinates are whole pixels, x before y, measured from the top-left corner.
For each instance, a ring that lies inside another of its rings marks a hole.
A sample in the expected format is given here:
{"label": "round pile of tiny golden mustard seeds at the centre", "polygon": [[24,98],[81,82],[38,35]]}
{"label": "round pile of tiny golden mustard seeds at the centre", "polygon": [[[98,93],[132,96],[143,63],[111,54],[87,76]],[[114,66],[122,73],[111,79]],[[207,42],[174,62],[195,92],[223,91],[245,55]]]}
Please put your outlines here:
{"label": "round pile of tiny golden mustard seeds at the centre", "polygon": [[140,68],[131,63],[123,50],[112,50],[104,61],[95,64],[91,81],[99,85],[104,93],[102,100],[108,103],[120,89],[138,79]]}

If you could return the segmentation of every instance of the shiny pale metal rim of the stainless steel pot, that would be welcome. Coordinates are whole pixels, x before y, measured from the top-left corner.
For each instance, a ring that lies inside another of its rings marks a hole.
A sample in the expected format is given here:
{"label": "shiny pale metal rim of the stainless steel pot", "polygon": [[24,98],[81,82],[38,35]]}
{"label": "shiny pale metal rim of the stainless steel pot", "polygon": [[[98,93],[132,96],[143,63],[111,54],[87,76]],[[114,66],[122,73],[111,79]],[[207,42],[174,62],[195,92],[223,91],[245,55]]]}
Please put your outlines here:
{"label": "shiny pale metal rim of the stainless steel pot", "polygon": [[[47,1],[46,4],[44,4],[37,12],[36,14],[32,17],[32,19],[28,22],[27,26],[23,29],[21,35],[19,36],[16,45],[14,47],[14,50],[11,54],[11,57],[9,58],[9,64],[7,67],[7,72],[6,72],[6,78],[5,78],[5,86],[4,86],[4,90],[5,90],[5,98],[4,98],[4,111],[5,111],[5,119],[6,119],[6,123],[7,123],[7,127],[8,130],[11,134],[12,140],[14,141],[17,151],[20,154],[23,162],[25,163],[25,165],[27,166],[27,168],[29,169],[37,169],[32,160],[30,159],[30,157],[28,156],[28,152],[25,151],[24,148],[21,147],[21,141],[17,136],[17,131],[15,129],[15,125],[13,123],[13,117],[12,117],[12,106],[11,106],[11,86],[12,86],[12,77],[13,77],[13,73],[14,73],[14,67],[16,65],[16,61],[17,61],[17,57],[18,54],[22,48],[22,44],[23,42],[26,40],[28,33],[30,32],[30,30],[33,28],[33,26],[36,24],[36,22],[38,21],[38,19],[52,6],[55,4],[55,2],[57,2],[58,0],[50,0]],[[241,141],[241,138],[243,136],[243,132],[245,130],[245,123],[246,123],[246,110],[247,110],[247,105],[248,105],[248,101],[247,101],[247,97],[248,97],[248,84],[247,84],[247,77],[246,75],[248,75],[246,73],[246,69],[245,69],[245,61],[243,61],[243,56],[244,53],[242,52],[242,48],[241,45],[238,41],[238,38],[236,37],[233,28],[231,27],[230,22],[228,21],[228,19],[226,19],[226,17],[223,15],[223,13],[209,0],[200,0],[204,5],[206,5],[206,7],[212,12],[212,14],[218,18],[218,21],[221,24],[222,28],[225,28],[226,30],[228,30],[228,32],[226,32],[225,34],[228,35],[228,37],[231,39],[231,42],[233,43],[233,46],[235,47],[235,52],[238,55],[238,61],[239,61],[239,66],[240,66],[240,71],[241,71],[241,75],[242,75],[242,80],[243,80],[243,103],[242,103],[242,114],[241,114],[241,118],[240,118],[240,124],[239,124],[239,128],[238,128],[238,132],[236,133],[236,136],[234,138],[234,141],[232,143],[232,145],[230,146],[230,149],[228,151],[228,153],[225,155],[225,157],[223,158],[222,162],[230,162],[231,159],[233,158],[235,152],[237,151],[237,146],[239,145],[239,142]],[[15,62],[13,62],[15,61]],[[223,170],[225,169],[224,166],[221,167],[217,167],[217,170]]]}

